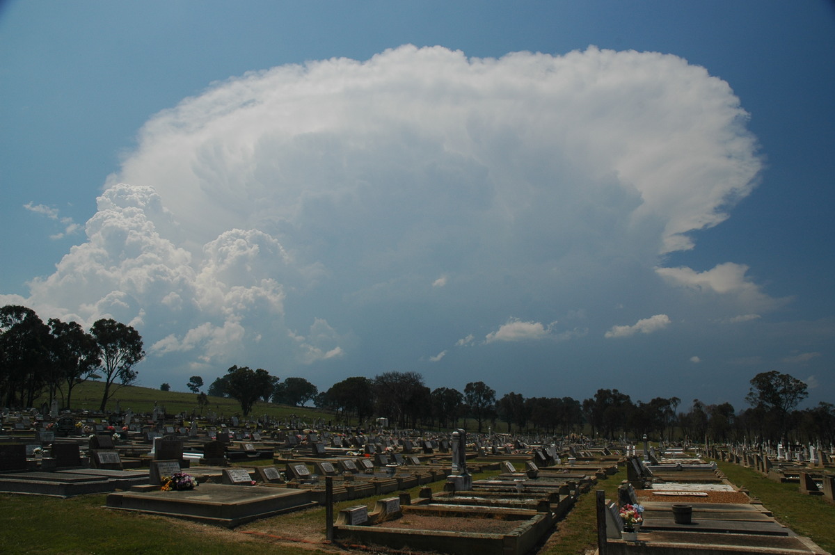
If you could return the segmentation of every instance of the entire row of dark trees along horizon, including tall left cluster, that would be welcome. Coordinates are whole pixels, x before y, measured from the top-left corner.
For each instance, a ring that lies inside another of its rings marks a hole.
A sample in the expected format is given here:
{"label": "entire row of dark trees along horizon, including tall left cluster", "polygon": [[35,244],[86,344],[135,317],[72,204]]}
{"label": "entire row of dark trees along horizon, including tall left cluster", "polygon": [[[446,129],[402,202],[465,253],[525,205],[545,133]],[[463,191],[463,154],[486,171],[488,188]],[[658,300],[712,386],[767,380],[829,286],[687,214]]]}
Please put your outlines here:
{"label": "entire row of dark trees along horizon, including tall left cluster", "polygon": [[[134,366],[144,358],[142,338],[130,325],[113,319],[94,322],[89,331],[76,322],[51,318],[43,322],[25,306],[0,308],[0,402],[8,407],[33,406],[48,394],[60,395],[70,407],[73,387],[88,379],[104,381],[99,407],[120,386],[134,383]],[[272,401],[291,406],[311,402],[332,411],[337,419],[367,421],[387,417],[392,426],[440,429],[472,419],[478,432],[544,432],[591,434],[655,439],[690,438],[693,441],[825,441],[835,444],[835,405],[820,402],[802,411],[807,398],[804,382],[778,371],[754,376],[746,396],[747,408],[736,411],[730,403],[706,405],[694,399],[687,411],[678,411],[678,397],[633,401],[617,389],[599,389],[578,401],[571,397],[528,397],[510,391],[496,396],[483,381],[472,381],[463,391],[451,387],[430,390],[418,372],[388,371],[373,378],[352,376],[326,391],[302,377],[281,381],[258,368],[231,366],[211,383],[208,394],[228,396],[240,403],[248,416],[256,402]],[[186,386],[198,393],[198,404],[208,404],[200,376]],[[170,388],[163,384],[162,389]],[[504,426],[502,426],[504,425]],[[504,430],[500,430],[504,428]]]}

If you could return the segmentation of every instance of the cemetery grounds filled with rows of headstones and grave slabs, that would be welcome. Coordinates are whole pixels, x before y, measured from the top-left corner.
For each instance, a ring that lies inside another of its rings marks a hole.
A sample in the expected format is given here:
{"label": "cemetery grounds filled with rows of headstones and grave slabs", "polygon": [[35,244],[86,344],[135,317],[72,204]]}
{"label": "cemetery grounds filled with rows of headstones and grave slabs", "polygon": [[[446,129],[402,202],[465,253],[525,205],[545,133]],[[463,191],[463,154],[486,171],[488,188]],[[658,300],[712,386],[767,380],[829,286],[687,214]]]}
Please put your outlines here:
{"label": "cemetery grounds filled with rows of headstones and grave slabs", "polygon": [[[281,528],[287,513],[339,504],[322,523],[322,545],[519,555],[537,552],[581,498],[594,497],[601,554],[826,552],[716,464],[749,467],[832,503],[832,453],[817,446],[640,446],[312,424],[189,422],[162,408],[7,412],[0,492],[104,494],[102,510],[230,530]],[[600,487],[615,474],[625,480],[605,498]],[[634,530],[629,507],[640,507]]]}

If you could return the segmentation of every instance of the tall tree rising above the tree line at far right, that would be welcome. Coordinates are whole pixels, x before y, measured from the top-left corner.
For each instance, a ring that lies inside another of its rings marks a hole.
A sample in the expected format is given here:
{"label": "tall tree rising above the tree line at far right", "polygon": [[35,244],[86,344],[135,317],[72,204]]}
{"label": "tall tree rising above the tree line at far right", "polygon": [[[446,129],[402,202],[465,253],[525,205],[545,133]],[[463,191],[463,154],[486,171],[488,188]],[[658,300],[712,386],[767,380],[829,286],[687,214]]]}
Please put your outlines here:
{"label": "tall tree rising above the tree line at far right", "polygon": [[777,440],[786,433],[789,412],[808,395],[805,383],[772,370],[751,378],[751,389],[745,400],[767,415],[767,433],[770,439]]}

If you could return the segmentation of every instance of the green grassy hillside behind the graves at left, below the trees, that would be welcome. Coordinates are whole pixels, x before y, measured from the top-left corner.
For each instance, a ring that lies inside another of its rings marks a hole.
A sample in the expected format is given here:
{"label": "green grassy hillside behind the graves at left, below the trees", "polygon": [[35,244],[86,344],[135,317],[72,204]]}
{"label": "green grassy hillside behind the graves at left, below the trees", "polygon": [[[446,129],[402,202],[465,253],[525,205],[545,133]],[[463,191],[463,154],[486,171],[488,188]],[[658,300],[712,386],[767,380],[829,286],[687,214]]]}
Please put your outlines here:
{"label": "green grassy hillside behind the graves at left, below the trees", "polygon": [[[73,389],[73,406],[71,408],[75,411],[99,411],[103,393],[103,381],[85,381]],[[37,401],[36,406],[39,406],[43,401],[48,401],[48,399],[43,397]],[[61,399],[59,397],[58,402],[60,403],[60,401]],[[131,409],[136,413],[151,412],[154,410],[154,402],[156,402],[159,406],[164,406],[168,414],[179,414],[183,411],[189,414],[191,411],[195,411],[195,414],[200,414],[200,407],[197,405],[197,395],[183,391],[160,391],[159,389],[151,389],[149,387],[124,386],[120,387],[114,393],[114,396],[110,397],[107,404],[108,411],[115,410],[116,401],[119,401],[119,406],[122,411]],[[238,401],[227,397],[209,396],[209,405],[205,407],[203,413],[205,414],[207,411],[214,411],[218,416],[223,414],[226,417],[241,415]],[[261,416],[264,414],[280,419],[286,419],[291,414],[295,414],[306,421],[312,421],[314,418],[324,418],[326,421],[336,420],[330,412],[320,411],[310,406],[289,406],[257,402],[252,407],[252,416]]]}

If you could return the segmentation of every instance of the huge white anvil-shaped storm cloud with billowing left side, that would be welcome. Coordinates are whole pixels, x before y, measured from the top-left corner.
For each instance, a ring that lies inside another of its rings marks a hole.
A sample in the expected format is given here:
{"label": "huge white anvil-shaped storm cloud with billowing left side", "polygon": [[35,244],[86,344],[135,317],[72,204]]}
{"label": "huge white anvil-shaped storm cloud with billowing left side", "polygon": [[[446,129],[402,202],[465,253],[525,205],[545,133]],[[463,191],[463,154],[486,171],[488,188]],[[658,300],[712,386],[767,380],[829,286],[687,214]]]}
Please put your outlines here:
{"label": "huge white anvil-shaped storm cloud with billowing left side", "polygon": [[[602,290],[625,298],[727,217],[761,168],[746,119],[727,83],[660,53],[407,45],[246,73],[150,119],[86,240],[28,299],[4,298],[141,322],[149,358],[184,376],[367,372],[362,349],[397,352],[438,322],[460,337],[478,329],[473,307],[523,315],[485,341],[543,338],[534,300],[562,314]],[[639,270],[615,279],[613,260]]]}

